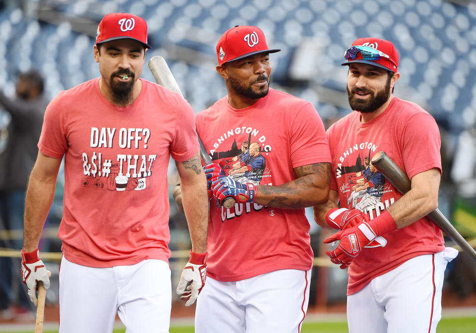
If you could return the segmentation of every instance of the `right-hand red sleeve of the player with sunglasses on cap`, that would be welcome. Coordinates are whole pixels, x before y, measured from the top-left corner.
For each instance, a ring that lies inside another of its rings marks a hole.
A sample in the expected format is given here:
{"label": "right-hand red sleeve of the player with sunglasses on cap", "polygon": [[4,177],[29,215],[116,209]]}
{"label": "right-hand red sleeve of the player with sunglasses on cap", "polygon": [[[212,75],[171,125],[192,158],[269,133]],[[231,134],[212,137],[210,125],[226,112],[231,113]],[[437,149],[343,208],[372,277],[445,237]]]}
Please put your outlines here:
{"label": "right-hand red sleeve of the player with sunglasses on cap", "polygon": [[418,112],[412,116],[401,140],[403,163],[410,179],[432,168],[441,172],[440,132],[430,114]]}

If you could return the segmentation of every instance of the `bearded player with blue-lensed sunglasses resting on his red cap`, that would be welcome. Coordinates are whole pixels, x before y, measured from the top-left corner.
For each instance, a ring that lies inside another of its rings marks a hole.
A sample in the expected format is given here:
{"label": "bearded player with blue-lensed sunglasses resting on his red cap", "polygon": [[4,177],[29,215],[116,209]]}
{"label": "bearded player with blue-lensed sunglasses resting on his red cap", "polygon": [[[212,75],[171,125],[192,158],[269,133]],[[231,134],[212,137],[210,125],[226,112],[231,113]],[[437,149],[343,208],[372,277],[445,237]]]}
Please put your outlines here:
{"label": "bearded player with blue-lensed sunglasses resting on his red cap", "polygon": [[[393,95],[400,73],[391,42],[359,38],[344,57],[354,112],[327,131],[331,191],[327,204],[314,207],[314,217],[323,227],[340,229],[324,242],[338,241],[326,253],[342,269],[349,267],[349,332],[434,333],[446,264],[457,255],[425,218],[438,205],[438,127],[428,112]],[[388,181],[364,179],[367,196],[380,198],[373,205],[357,203],[362,210],[352,209],[348,176],[365,173],[362,159],[371,160],[379,151],[408,174],[412,189],[402,196]]]}

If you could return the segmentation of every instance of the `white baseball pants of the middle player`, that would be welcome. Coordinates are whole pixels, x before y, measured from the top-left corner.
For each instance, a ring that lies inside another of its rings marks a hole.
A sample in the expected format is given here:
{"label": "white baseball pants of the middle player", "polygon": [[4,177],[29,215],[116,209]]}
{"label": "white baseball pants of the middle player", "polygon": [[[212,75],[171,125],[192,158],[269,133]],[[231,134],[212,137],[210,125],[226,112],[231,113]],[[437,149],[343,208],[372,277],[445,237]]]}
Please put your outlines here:
{"label": "white baseball pants of the middle player", "polygon": [[279,270],[236,282],[207,277],[197,300],[195,332],[298,333],[310,279],[310,270]]}

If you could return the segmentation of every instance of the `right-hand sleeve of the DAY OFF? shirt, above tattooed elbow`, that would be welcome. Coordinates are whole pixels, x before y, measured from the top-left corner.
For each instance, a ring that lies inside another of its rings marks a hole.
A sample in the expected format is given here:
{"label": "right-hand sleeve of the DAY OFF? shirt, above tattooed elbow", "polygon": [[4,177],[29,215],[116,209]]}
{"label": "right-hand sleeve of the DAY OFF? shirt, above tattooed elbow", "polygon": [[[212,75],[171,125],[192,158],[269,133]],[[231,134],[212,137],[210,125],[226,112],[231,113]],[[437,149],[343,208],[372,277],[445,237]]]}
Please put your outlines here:
{"label": "right-hand sleeve of the DAY OFF? shirt, above tattooed elbow", "polygon": [[170,147],[171,155],[177,162],[191,159],[199,150],[195,130],[195,116],[188,102],[180,98],[174,139]]}

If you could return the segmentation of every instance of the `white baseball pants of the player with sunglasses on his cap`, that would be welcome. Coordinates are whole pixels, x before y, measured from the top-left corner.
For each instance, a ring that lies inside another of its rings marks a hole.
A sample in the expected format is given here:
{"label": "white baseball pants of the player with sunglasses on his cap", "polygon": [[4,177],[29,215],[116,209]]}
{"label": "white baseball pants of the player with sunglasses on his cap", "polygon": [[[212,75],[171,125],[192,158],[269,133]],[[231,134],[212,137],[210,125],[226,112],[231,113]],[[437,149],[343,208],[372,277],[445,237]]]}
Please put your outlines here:
{"label": "white baseball pants of the player with sunglasses on his cap", "polygon": [[435,333],[446,264],[457,255],[450,247],[417,256],[347,296],[349,333]]}

